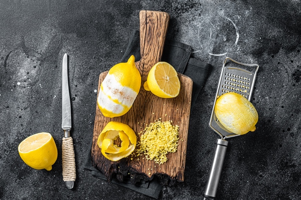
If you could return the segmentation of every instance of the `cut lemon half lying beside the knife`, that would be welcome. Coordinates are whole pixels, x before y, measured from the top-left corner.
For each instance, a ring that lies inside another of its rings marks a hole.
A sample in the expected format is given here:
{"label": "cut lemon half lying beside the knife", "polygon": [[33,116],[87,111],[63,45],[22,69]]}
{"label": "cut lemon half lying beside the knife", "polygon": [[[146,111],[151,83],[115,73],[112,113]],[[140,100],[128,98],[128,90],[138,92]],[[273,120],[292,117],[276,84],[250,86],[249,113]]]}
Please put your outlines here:
{"label": "cut lemon half lying beside the knife", "polygon": [[34,169],[51,170],[58,158],[58,149],[52,135],[40,132],[25,138],[18,146],[23,161]]}

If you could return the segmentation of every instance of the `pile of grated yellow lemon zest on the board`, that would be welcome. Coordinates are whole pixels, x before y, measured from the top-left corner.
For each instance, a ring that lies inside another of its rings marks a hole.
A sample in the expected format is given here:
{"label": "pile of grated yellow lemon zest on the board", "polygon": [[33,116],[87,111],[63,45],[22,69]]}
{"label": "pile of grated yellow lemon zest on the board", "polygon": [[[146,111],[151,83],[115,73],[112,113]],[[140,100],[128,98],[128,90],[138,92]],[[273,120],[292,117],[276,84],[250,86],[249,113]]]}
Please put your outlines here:
{"label": "pile of grated yellow lemon zest on the board", "polygon": [[167,161],[168,152],[176,152],[179,144],[179,126],[172,121],[156,120],[143,130],[136,150],[137,156],[145,155],[146,159],[154,160],[158,164]]}

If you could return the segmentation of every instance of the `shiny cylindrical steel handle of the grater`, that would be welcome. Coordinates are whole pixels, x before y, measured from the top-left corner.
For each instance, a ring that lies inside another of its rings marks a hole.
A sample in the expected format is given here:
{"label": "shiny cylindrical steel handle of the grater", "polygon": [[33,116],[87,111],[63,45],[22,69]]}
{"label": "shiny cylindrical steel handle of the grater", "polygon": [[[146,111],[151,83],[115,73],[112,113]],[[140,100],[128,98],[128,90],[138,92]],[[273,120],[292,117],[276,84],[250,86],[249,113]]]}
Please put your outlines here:
{"label": "shiny cylindrical steel handle of the grater", "polygon": [[204,200],[215,198],[227,146],[227,140],[217,139],[214,157],[211,163],[209,177],[204,191]]}

